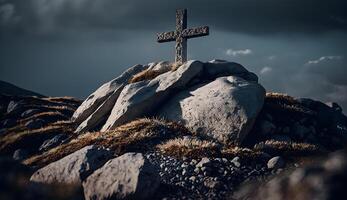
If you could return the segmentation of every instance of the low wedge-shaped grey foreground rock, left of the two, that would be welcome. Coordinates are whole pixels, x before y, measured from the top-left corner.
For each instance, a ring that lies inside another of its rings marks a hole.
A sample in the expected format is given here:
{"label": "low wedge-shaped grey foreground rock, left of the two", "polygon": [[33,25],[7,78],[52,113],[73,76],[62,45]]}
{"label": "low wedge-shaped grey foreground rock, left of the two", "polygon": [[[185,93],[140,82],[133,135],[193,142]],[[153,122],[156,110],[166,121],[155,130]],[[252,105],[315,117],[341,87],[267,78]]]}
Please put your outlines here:
{"label": "low wedge-shaped grey foreground rock, left of the two", "polygon": [[47,184],[80,184],[110,157],[111,153],[106,149],[87,146],[37,170],[30,180]]}

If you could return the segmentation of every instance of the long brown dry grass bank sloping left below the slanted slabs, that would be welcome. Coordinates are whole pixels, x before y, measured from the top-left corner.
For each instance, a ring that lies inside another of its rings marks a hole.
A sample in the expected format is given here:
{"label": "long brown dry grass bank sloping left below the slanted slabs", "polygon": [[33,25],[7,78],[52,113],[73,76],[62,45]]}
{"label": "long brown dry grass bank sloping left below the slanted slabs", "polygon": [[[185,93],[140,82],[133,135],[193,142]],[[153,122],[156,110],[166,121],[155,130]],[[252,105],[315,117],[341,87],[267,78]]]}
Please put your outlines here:
{"label": "long brown dry grass bank sloping left below the slanted slabs", "polygon": [[107,132],[85,133],[41,155],[29,158],[27,165],[43,166],[61,159],[85,146],[97,145],[109,148],[115,154],[129,151],[143,152],[180,135],[191,135],[185,127],[159,119],[138,119]]}

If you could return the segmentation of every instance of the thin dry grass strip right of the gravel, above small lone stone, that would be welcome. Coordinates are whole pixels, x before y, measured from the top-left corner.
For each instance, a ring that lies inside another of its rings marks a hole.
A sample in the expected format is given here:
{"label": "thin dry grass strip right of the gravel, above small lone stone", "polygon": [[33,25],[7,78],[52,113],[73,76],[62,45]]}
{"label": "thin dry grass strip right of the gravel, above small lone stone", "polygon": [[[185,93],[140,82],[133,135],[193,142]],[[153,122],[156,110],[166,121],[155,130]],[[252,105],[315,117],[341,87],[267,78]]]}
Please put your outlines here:
{"label": "thin dry grass strip right of the gravel, above small lone stone", "polygon": [[305,156],[314,155],[321,152],[320,149],[313,144],[282,142],[275,140],[267,140],[255,145],[255,149],[270,154],[287,155],[287,156]]}

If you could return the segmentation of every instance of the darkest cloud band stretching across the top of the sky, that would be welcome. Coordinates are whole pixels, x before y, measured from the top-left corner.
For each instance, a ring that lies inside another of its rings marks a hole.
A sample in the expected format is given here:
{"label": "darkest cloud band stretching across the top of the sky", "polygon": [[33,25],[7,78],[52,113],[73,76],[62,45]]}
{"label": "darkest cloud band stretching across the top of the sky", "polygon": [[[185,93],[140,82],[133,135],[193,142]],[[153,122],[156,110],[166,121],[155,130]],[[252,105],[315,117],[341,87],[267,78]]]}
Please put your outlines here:
{"label": "darkest cloud band stretching across the top of the sky", "polygon": [[188,8],[192,24],[247,34],[347,30],[345,0],[6,0],[30,32],[64,29],[143,30],[174,27],[174,9]]}

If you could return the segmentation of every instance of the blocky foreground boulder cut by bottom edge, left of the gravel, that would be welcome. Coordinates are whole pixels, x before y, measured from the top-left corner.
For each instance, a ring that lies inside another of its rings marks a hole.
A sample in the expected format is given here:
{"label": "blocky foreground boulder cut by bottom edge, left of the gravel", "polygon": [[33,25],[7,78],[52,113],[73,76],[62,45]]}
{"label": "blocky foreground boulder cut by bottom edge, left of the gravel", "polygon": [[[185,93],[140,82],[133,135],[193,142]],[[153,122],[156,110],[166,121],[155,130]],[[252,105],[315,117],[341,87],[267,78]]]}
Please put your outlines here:
{"label": "blocky foreground boulder cut by bottom edge, left of the gravel", "polygon": [[151,199],[160,184],[155,167],[141,153],[108,161],[83,183],[85,199]]}

